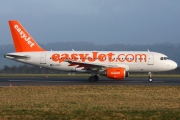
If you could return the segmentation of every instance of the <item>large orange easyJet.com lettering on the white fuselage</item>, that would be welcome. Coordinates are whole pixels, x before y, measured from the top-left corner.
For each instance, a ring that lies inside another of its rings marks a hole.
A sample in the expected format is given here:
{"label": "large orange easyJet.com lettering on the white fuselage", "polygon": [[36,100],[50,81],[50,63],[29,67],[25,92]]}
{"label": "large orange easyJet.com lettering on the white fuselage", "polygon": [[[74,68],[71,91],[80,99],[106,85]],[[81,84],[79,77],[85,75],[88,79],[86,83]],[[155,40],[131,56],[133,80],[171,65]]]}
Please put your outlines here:
{"label": "large orange easyJet.com lettering on the white fuselage", "polygon": [[100,62],[106,61],[106,59],[109,60],[109,62],[137,62],[139,59],[139,62],[146,62],[146,54],[119,54],[117,57],[117,60],[114,60],[113,58],[114,53],[107,53],[107,54],[99,54],[98,52],[92,52],[90,55],[89,54],[53,54],[51,56],[51,59],[54,62],[59,61],[60,63],[63,62],[64,60],[70,59],[73,61],[77,61],[79,58],[81,59],[82,62],[86,62],[88,60],[89,62],[95,62],[96,59],[98,59]]}

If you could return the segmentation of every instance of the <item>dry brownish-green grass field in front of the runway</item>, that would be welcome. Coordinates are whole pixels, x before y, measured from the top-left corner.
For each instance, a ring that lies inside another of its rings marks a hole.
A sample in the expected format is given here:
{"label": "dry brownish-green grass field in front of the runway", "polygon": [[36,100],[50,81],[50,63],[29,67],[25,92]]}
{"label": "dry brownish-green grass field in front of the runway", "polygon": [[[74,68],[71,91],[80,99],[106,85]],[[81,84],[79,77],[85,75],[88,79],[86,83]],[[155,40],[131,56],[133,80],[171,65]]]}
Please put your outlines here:
{"label": "dry brownish-green grass field in front of the runway", "polygon": [[180,119],[179,86],[0,88],[0,119]]}

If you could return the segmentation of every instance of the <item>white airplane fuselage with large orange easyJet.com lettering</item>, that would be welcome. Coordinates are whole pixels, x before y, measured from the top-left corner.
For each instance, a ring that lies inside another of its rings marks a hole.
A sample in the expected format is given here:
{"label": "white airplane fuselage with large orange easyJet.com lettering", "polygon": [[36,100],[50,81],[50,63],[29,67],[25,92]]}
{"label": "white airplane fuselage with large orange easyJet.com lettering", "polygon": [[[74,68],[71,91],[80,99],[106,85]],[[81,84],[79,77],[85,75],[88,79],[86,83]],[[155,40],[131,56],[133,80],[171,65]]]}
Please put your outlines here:
{"label": "white airplane fuselage with large orange easyJet.com lettering", "polygon": [[43,51],[15,52],[6,58],[31,65],[62,71],[87,72],[82,67],[69,66],[69,61],[79,63],[124,67],[128,72],[160,72],[173,70],[177,64],[167,56],[149,51]]}

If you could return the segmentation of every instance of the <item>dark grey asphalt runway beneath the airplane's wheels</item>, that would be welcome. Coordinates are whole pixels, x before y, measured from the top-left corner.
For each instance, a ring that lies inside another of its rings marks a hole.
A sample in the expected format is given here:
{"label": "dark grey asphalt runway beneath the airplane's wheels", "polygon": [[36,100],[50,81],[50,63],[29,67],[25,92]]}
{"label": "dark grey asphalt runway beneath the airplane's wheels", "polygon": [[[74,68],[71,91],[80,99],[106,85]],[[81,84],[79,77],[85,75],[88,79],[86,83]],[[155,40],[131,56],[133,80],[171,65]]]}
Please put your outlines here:
{"label": "dark grey asphalt runway beneath the airplane's wheels", "polygon": [[112,80],[100,78],[97,82],[89,82],[86,77],[60,78],[0,78],[0,86],[61,86],[61,85],[166,85],[180,86],[180,78],[154,78],[149,82],[147,78],[126,78]]}

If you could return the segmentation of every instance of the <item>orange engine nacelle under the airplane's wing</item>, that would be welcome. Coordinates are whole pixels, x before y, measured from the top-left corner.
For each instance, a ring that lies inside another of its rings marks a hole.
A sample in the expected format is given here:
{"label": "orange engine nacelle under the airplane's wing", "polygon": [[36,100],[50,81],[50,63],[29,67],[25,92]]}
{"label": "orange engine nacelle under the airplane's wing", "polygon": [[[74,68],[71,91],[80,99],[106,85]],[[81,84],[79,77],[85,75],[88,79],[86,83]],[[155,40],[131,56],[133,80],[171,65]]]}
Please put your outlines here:
{"label": "orange engine nacelle under the airplane's wing", "polygon": [[122,80],[126,77],[126,71],[124,68],[107,68],[100,75],[107,76],[111,79]]}

